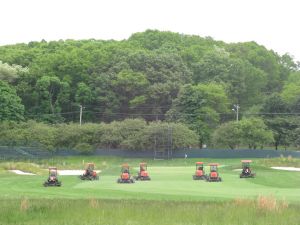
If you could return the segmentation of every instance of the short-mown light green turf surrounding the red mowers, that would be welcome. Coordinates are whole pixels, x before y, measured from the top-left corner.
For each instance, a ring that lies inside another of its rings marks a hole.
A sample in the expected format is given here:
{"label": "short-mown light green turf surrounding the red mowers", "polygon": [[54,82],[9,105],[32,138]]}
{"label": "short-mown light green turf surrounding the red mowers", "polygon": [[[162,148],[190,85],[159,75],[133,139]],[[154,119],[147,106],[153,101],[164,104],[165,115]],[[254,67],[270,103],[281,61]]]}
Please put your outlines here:
{"label": "short-mown light green turf surrounding the red mowers", "polygon": [[[136,182],[135,184],[118,184],[120,164],[123,161],[135,165],[132,172],[136,172],[139,159],[120,158],[84,158],[85,162],[95,161],[97,168],[103,172],[100,181],[81,181],[76,176],[60,176],[63,186],[59,188],[45,188],[42,183],[45,175],[22,176],[10,172],[0,174],[0,198],[105,198],[105,199],[147,199],[147,200],[229,200],[237,198],[256,199],[257,196],[273,196],[289,202],[300,202],[300,172],[288,172],[269,169],[259,160],[253,164],[257,173],[254,179],[240,179],[239,159],[203,160],[216,161],[223,182],[209,183],[192,180],[197,159],[177,159],[171,161],[148,162],[150,182]],[[57,165],[59,168],[82,168],[83,158],[72,157],[53,159],[50,162],[38,162],[42,167]],[[269,165],[268,165],[269,166]],[[24,167],[24,165],[23,165]],[[31,166],[32,167],[32,166]],[[36,170],[36,167],[34,167]],[[42,168],[40,168],[42,171]],[[208,171],[208,169],[206,170]]]}

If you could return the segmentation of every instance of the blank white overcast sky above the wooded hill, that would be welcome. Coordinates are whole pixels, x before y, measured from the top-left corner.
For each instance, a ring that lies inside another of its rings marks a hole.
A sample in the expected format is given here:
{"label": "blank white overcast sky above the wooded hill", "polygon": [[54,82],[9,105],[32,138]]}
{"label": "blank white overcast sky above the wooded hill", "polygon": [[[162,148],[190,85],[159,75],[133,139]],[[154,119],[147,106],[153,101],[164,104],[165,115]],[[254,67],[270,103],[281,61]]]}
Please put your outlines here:
{"label": "blank white overcast sky above the wooded hill", "polygon": [[256,41],[300,61],[299,0],[0,0],[0,45],[146,29]]}

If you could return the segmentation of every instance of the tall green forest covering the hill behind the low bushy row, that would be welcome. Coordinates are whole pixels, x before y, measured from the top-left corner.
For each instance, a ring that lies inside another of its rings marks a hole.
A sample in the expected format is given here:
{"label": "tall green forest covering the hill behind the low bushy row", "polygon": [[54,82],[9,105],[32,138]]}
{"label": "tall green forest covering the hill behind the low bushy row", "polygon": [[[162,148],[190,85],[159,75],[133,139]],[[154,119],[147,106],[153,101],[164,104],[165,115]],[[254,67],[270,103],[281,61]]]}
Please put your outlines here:
{"label": "tall green forest covering the hill behind the low bushy row", "polygon": [[78,123],[82,106],[83,123],[180,123],[200,146],[300,145],[299,62],[255,42],[147,30],[0,46],[0,105],[15,126]]}

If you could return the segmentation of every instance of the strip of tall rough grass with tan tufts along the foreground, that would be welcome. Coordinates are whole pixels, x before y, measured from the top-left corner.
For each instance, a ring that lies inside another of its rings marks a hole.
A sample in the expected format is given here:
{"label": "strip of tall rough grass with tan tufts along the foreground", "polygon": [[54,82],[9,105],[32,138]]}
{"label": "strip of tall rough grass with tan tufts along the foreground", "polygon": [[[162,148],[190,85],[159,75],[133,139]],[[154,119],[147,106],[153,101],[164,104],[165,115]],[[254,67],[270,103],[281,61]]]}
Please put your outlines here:
{"label": "strip of tall rough grass with tan tufts along the foreground", "polygon": [[0,200],[0,224],[299,225],[300,205],[272,197],[228,202]]}

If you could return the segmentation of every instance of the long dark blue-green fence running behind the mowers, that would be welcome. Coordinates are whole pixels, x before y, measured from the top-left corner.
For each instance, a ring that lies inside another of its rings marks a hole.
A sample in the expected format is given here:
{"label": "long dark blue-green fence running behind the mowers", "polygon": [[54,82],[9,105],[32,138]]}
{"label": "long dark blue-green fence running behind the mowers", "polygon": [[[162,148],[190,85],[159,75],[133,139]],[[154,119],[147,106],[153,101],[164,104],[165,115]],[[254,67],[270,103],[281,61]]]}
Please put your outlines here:
{"label": "long dark blue-green fence running behind the mowers", "polygon": [[[0,146],[0,160],[22,160],[22,159],[43,159],[59,156],[80,156],[80,152],[70,149],[48,151],[39,147],[25,146]],[[116,156],[125,158],[153,158],[155,151],[133,151],[126,149],[97,149],[92,156]],[[274,157],[300,158],[300,151],[279,151],[279,150],[221,150],[221,149],[180,149],[174,150],[172,158],[274,158]],[[168,159],[166,152],[165,157]]]}

